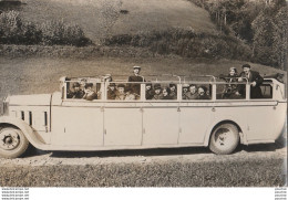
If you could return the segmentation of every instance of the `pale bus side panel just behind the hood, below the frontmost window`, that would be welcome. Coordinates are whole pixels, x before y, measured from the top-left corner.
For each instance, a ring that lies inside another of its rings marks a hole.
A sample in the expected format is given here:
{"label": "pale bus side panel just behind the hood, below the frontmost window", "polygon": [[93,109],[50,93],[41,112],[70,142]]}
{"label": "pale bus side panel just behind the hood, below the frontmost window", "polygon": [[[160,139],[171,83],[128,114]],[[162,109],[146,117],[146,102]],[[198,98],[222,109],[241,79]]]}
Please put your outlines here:
{"label": "pale bus side panel just behind the hood, below the frontmost window", "polygon": [[52,145],[102,146],[103,112],[100,107],[52,106]]}

